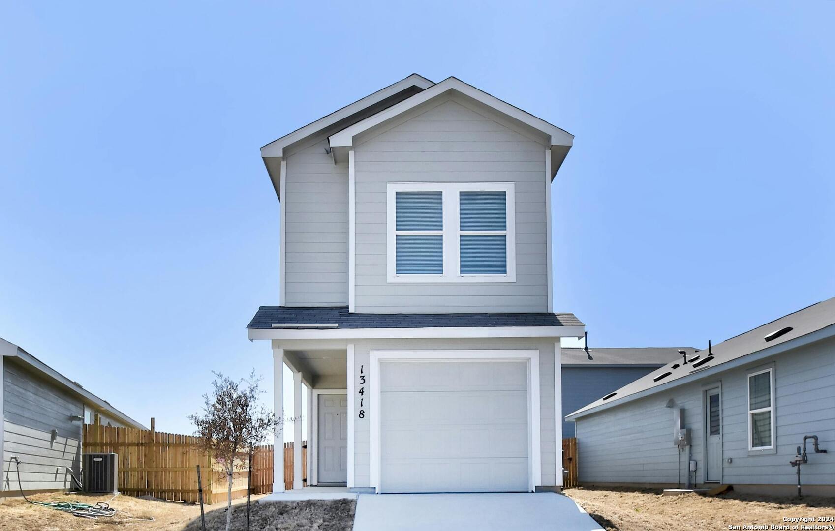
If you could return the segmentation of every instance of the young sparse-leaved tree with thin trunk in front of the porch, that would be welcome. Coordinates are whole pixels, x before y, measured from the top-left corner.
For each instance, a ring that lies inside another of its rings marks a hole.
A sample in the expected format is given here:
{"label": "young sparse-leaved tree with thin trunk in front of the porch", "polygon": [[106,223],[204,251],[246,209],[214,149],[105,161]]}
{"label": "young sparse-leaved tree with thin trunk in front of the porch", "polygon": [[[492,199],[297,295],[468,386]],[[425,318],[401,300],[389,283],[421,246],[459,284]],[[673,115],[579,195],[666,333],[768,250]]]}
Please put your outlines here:
{"label": "young sparse-leaved tree with thin trunk in front of the porch", "polygon": [[[235,382],[212,372],[212,391],[203,395],[202,413],[189,416],[197,429],[200,445],[221,464],[229,482],[226,531],[232,523],[232,480],[235,469],[246,467],[251,448],[263,443],[269,433],[281,431],[281,418],[261,404],[264,392],[253,370],[249,378]],[[281,452],[277,448],[276,452]]]}

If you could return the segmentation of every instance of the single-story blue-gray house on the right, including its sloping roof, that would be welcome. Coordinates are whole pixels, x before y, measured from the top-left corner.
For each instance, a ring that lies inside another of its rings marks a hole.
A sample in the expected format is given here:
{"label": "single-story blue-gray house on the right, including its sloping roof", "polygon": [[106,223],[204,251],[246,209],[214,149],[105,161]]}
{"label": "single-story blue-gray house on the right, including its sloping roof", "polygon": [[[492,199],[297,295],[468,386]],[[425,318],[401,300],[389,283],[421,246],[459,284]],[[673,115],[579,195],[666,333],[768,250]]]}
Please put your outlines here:
{"label": "single-story blue-gray house on the right, including its sloping roof", "polygon": [[[681,423],[679,418],[683,417]],[[569,415],[579,481],[793,493],[803,437],[817,435],[801,483],[835,495],[835,298],[676,361]],[[690,445],[674,441],[683,425]]]}

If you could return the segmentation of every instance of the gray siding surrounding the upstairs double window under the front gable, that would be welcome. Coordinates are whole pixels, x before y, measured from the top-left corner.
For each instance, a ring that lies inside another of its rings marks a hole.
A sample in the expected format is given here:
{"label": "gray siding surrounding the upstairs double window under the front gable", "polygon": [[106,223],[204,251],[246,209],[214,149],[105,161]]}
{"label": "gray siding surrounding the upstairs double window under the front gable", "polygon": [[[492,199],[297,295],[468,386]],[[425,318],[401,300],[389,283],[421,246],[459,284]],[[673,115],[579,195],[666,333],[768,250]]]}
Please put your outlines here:
{"label": "gray siding surrounding the upstairs double window under the front gable", "polygon": [[[355,147],[357,311],[547,311],[544,145],[453,100],[374,134]],[[515,184],[516,282],[387,282],[386,185],[433,181]]]}

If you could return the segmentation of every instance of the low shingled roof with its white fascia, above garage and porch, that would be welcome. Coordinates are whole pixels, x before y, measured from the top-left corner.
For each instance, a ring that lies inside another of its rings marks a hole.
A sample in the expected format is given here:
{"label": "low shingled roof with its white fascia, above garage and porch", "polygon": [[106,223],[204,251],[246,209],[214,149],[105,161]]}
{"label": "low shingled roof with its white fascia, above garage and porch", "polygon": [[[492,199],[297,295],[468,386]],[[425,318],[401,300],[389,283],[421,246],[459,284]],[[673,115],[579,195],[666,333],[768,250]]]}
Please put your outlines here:
{"label": "low shingled roof with its white fascia, above garage and porch", "polygon": [[570,313],[351,313],[347,306],[261,306],[247,329],[250,339],[271,339],[280,331],[285,331],[281,337],[301,338],[311,331],[316,337],[371,337],[372,331],[392,336],[397,331],[411,330],[406,337],[424,336],[424,332],[415,332],[420,330],[452,333],[484,328],[495,329],[496,333],[528,330],[522,336],[578,337],[583,335],[583,327]]}

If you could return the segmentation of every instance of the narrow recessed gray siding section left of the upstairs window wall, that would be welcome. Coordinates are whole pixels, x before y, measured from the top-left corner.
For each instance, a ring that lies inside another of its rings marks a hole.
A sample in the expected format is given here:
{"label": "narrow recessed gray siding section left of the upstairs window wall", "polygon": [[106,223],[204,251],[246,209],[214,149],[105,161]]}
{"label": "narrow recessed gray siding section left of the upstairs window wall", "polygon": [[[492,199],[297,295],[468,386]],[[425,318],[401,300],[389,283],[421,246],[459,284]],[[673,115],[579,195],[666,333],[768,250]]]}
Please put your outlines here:
{"label": "narrow recessed gray siding section left of the upstairs window wall", "polygon": [[348,168],[326,140],[286,158],[286,306],[348,303]]}

